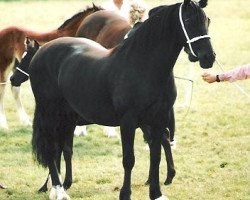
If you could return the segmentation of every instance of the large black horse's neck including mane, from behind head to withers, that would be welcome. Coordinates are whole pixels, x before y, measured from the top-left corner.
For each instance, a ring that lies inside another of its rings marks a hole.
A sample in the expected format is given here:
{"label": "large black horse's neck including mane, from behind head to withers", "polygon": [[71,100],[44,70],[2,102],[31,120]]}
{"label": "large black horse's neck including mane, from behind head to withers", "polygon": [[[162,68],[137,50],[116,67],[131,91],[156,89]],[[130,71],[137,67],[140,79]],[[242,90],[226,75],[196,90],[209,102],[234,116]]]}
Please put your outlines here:
{"label": "large black horse's neck including mane, from behind head to withers", "polygon": [[120,46],[118,52],[131,66],[134,67],[133,62],[140,59],[145,68],[157,68],[165,75],[172,71],[184,44],[178,17],[179,5],[163,7]]}

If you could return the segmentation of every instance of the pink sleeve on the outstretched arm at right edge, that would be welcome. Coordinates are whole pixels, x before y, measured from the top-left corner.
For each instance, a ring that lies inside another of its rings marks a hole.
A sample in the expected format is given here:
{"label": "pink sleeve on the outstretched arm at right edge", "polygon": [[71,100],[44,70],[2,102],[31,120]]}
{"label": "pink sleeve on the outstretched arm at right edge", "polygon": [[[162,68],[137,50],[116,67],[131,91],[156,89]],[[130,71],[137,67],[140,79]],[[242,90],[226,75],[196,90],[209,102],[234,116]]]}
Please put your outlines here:
{"label": "pink sleeve on the outstretched arm at right edge", "polygon": [[250,64],[219,74],[221,81],[234,82],[250,78]]}

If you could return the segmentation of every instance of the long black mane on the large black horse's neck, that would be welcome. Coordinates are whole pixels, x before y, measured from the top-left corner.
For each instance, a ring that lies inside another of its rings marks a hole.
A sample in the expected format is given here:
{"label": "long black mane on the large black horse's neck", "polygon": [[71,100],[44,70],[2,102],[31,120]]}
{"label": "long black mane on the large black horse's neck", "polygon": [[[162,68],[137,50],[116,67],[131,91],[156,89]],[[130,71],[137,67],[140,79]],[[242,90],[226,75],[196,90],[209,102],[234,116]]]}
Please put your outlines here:
{"label": "long black mane on the large black horse's neck", "polygon": [[[124,46],[130,46],[128,51],[140,44],[141,50],[146,51],[152,49],[153,45],[159,40],[169,37],[171,24],[178,23],[173,21],[172,13],[179,8],[180,4],[169,6],[160,6],[150,11],[149,18],[141,24],[136,32],[124,41]],[[172,20],[172,21],[171,21]],[[137,48],[138,49],[138,48]]]}

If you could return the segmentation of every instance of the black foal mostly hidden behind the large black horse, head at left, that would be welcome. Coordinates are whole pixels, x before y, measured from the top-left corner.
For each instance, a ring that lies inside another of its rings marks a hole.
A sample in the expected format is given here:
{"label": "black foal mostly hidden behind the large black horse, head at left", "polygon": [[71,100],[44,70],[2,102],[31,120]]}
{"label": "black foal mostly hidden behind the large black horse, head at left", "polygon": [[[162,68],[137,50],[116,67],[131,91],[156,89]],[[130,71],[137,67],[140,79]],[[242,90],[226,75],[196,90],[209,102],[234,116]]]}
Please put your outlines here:
{"label": "black foal mostly hidden behind the large black horse, head at left", "polygon": [[[128,34],[129,35],[128,37],[130,37],[131,35],[134,34],[135,30],[138,29],[138,26],[139,26],[139,24],[137,24],[135,27],[133,27],[131,29],[131,31]],[[14,71],[13,75],[10,78],[12,86],[16,86],[16,87],[20,86],[23,82],[28,80],[30,62],[31,62],[33,56],[35,55],[35,53],[40,48],[40,45],[36,40],[30,40],[29,38],[26,38],[25,43],[26,43],[26,52],[23,55],[20,63],[18,64],[18,66],[16,67],[16,70]],[[170,81],[170,84],[173,84],[173,87],[175,87],[174,81],[173,82]],[[170,115],[169,116],[170,117],[169,125],[168,125],[168,128],[166,130],[166,135],[164,135],[163,140],[161,142],[162,146],[164,148],[164,151],[165,151],[166,162],[167,162],[167,177],[166,177],[166,180],[164,182],[165,185],[169,185],[172,183],[173,178],[174,178],[175,173],[176,173],[175,169],[174,169],[174,162],[173,162],[171,149],[168,148],[169,138],[170,138],[170,141],[173,141],[174,132],[175,132],[175,117],[174,117],[174,110],[173,109],[169,112],[169,115]],[[81,125],[81,120],[77,121],[77,125]],[[170,135],[170,137],[169,137],[169,135]],[[150,144],[150,142],[151,142],[150,132],[145,128],[143,130],[143,137],[144,137],[144,140],[148,144]],[[65,174],[65,180],[63,183],[64,189],[69,189],[72,185],[72,172],[71,172],[71,169],[72,169],[72,166],[71,166],[72,147],[73,147],[73,140],[65,141],[63,152],[62,152],[64,155],[65,162],[66,162],[66,174]],[[60,158],[58,158],[58,159],[60,160]],[[58,167],[58,171],[60,173],[61,167],[60,167],[59,162],[58,162],[57,167]],[[47,176],[45,183],[38,190],[38,192],[46,192],[48,190],[49,178],[50,178],[50,174]],[[145,184],[149,184],[149,182],[150,182],[150,177],[148,177]]]}

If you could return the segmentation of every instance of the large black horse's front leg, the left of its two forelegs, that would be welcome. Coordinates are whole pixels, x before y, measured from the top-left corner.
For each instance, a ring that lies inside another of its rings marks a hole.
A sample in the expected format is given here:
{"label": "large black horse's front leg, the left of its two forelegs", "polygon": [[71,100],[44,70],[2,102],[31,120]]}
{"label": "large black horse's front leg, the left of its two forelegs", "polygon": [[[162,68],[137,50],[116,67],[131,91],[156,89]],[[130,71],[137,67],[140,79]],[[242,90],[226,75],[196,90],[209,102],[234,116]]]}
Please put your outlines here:
{"label": "large black horse's front leg, the left of its two forelegs", "polygon": [[124,117],[121,123],[121,140],[123,152],[124,180],[120,191],[120,200],[130,200],[131,196],[131,172],[135,164],[134,138],[135,122],[130,115]]}

